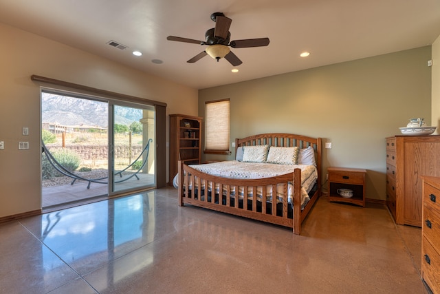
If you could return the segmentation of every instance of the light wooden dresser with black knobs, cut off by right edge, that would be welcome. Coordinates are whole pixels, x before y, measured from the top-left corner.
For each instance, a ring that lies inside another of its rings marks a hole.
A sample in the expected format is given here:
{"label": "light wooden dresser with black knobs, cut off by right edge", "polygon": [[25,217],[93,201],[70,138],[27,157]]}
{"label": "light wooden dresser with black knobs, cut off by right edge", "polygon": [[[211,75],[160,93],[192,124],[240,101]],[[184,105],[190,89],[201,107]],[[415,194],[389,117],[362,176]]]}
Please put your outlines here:
{"label": "light wooden dresser with black knobs, cut off by right edge", "polygon": [[440,178],[423,177],[421,277],[440,293]]}

